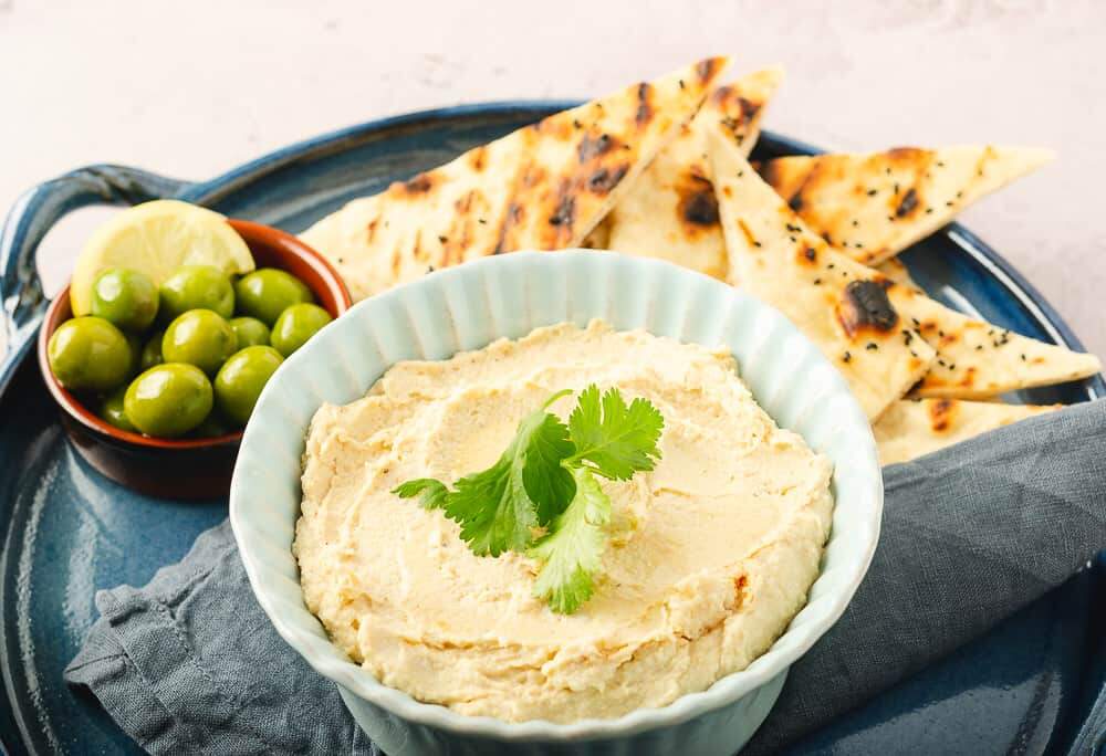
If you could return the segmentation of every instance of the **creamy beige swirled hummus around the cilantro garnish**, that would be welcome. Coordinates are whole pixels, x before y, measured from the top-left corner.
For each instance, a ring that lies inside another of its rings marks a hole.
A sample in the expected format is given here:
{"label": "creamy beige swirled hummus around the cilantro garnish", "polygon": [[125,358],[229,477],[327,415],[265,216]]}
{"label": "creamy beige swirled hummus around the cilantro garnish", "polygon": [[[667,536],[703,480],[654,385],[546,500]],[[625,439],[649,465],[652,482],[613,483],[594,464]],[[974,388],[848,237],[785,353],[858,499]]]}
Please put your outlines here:
{"label": "creamy beige swirled hummus around the cilantro garnish", "polygon": [[[591,382],[661,411],[664,456],[603,481],[603,573],[563,616],[531,595],[535,561],[476,556],[441,511],[389,492],[491,465],[525,414]],[[830,476],[757,405],[728,351],[559,325],[400,363],[365,398],[322,407],[293,549],[307,607],[384,684],[469,715],[615,717],[702,691],[768,650],[818,575]]]}

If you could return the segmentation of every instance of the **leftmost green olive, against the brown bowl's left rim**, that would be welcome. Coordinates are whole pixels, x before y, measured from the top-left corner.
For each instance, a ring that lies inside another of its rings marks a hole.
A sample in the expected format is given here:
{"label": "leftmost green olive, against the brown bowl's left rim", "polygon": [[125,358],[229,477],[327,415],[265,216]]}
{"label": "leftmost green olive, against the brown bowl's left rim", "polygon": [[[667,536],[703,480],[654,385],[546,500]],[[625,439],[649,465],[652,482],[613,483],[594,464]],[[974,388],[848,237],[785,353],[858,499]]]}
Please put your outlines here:
{"label": "leftmost green olive, against the brown bowl's left rim", "polygon": [[46,347],[50,370],[72,391],[111,391],[132,367],[131,345],[123,332],[102,317],[62,323]]}

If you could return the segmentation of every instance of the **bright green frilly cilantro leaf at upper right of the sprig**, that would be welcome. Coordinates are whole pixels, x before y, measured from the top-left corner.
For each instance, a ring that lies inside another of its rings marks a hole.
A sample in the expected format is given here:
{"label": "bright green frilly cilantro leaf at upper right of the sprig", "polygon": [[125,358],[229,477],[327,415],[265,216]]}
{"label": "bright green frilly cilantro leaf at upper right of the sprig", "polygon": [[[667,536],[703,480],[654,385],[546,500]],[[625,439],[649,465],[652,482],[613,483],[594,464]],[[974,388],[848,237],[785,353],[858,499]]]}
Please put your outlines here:
{"label": "bright green frilly cilantro leaf at upper right of the sprig", "polygon": [[576,453],[566,463],[586,460],[592,471],[604,477],[628,481],[637,471],[653,470],[660,459],[657,441],[665,419],[646,399],[635,399],[629,407],[616,388],[599,389],[592,384],[580,392],[576,408],[568,416],[568,430]]}

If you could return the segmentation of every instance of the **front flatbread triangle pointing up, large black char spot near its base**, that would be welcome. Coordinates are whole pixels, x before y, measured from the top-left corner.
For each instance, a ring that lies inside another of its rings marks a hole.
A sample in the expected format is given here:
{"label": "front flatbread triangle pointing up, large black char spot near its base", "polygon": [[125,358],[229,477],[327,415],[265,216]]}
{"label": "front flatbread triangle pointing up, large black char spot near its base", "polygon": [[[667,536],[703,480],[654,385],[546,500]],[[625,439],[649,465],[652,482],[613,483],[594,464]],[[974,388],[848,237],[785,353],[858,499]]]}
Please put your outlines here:
{"label": "front flatbread triangle pointing up, large black char spot near its base", "polygon": [[[907,339],[885,295],[890,282],[831,249],[716,129],[709,156],[731,276],[780,309],[877,418],[928,369],[933,350]],[[910,343],[907,343],[907,342]]]}

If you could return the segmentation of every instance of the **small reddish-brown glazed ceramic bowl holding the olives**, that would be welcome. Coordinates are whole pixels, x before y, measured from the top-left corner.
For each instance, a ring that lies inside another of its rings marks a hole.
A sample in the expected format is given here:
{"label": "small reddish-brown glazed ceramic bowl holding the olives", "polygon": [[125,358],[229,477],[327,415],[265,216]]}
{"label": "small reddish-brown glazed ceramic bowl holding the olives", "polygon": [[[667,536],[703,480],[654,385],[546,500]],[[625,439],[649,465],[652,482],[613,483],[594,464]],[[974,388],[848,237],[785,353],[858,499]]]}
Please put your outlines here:
{"label": "small reddish-brown glazed ceramic bowl holding the olives", "polygon": [[[290,233],[243,220],[228,221],[246,240],[258,267],[288,271],[315,294],[333,317],[349,308],[349,292],[322,255]],[[227,495],[242,433],[211,439],[155,439],[119,430],[65,390],[46,361],[54,330],[73,316],[69,286],[50,303],[39,330],[39,368],[61,408],[62,424],[77,452],[113,481],[140,493],[166,498],[215,498]]]}

